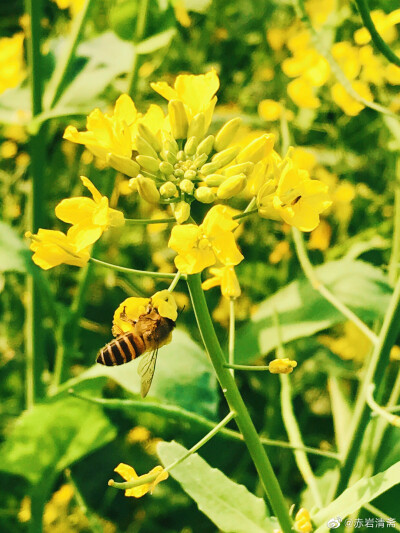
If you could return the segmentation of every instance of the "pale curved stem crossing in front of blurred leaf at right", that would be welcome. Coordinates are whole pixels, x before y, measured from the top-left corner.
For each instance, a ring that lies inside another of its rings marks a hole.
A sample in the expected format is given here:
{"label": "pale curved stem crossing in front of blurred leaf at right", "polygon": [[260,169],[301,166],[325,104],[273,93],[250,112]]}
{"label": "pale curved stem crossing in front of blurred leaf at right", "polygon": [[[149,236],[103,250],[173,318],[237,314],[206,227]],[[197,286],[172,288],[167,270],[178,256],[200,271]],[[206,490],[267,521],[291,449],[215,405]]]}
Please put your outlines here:
{"label": "pale curved stem crossing in front of blurred leaf at right", "polygon": [[302,234],[297,228],[292,227],[292,234],[294,239],[294,244],[296,247],[296,253],[297,257],[299,259],[300,265],[303,269],[303,272],[309,282],[311,283],[311,286],[313,289],[318,291],[321,296],[323,296],[328,302],[330,302],[340,313],[342,313],[343,316],[345,316],[348,320],[353,322],[358,329],[364,333],[366,337],[370,339],[370,341],[373,344],[377,344],[378,337],[375,335],[373,331],[369,329],[369,327],[364,324],[364,322],[355,314],[351,309],[349,309],[346,305],[344,305],[340,300],[336,298],[334,294],[331,293],[329,289],[323,285],[319,279],[317,278],[314,267],[307,255],[307,250],[304,244],[304,239]]}

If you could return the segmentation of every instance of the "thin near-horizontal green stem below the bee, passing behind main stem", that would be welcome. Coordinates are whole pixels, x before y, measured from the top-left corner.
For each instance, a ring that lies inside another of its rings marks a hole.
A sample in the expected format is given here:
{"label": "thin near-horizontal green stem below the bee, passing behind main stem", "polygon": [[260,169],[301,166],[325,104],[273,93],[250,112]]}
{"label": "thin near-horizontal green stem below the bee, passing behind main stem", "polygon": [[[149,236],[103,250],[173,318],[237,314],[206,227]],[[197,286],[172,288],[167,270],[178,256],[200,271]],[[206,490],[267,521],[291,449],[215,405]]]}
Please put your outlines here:
{"label": "thin near-horizontal green stem below the bee, passing behind main stem", "polygon": [[[186,411],[174,405],[166,406],[160,403],[153,403],[153,402],[148,402],[148,401],[143,402],[141,400],[112,400],[112,399],[107,400],[105,398],[94,398],[92,396],[84,396],[83,394],[74,392],[72,389],[69,390],[69,393],[75,398],[80,398],[81,400],[87,401],[89,403],[101,405],[106,409],[129,409],[131,410],[132,408],[135,408],[138,412],[140,411],[140,412],[145,412],[145,413],[151,413],[151,414],[158,415],[164,418],[170,418],[170,419],[176,420],[177,422],[184,420],[185,422],[186,421],[191,422],[204,428],[215,427],[215,424],[211,422],[211,420],[208,420],[207,418],[204,418],[203,416],[197,415],[196,413],[192,413],[190,411]],[[243,435],[239,433],[238,431],[233,431],[232,429],[224,428],[220,431],[220,435],[222,435],[223,437],[227,437],[233,440],[238,440],[238,441],[243,442]],[[335,452],[318,450],[317,448],[311,448],[310,446],[304,446],[301,448],[293,447],[288,442],[281,441],[281,440],[267,439],[265,437],[260,437],[260,440],[264,446],[272,446],[272,447],[286,448],[286,449],[301,449],[313,455],[319,455],[321,457],[328,457],[329,459],[340,461],[339,455]]]}

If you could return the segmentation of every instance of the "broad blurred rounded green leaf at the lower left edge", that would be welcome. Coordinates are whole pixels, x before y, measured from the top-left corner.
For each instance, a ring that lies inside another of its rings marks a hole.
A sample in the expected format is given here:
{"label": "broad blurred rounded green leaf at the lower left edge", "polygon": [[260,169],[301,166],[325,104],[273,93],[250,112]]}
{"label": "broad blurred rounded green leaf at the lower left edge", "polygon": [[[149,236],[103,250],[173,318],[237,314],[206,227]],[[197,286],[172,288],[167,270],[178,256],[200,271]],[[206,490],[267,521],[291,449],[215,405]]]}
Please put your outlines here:
{"label": "broad blurred rounded green leaf at the lower left edge", "polygon": [[54,476],[116,437],[103,409],[76,398],[24,412],[0,448],[0,470],[32,484]]}

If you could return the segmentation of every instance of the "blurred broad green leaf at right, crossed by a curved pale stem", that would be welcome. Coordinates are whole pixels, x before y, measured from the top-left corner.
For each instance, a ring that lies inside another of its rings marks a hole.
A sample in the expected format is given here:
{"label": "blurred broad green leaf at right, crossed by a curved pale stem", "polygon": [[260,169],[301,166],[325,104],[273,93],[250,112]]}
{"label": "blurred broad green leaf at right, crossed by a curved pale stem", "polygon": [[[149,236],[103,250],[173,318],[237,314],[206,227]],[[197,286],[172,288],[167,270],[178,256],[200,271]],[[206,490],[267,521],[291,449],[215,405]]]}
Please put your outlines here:
{"label": "blurred broad green leaf at right, crossed by a curved pale stem", "polygon": [[[382,317],[390,288],[383,272],[363,261],[332,261],[315,269],[318,279],[365,322]],[[347,320],[309,281],[302,277],[258,306],[236,341],[238,363],[254,360],[278,346],[274,310],[279,315],[283,342],[307,337]]]}

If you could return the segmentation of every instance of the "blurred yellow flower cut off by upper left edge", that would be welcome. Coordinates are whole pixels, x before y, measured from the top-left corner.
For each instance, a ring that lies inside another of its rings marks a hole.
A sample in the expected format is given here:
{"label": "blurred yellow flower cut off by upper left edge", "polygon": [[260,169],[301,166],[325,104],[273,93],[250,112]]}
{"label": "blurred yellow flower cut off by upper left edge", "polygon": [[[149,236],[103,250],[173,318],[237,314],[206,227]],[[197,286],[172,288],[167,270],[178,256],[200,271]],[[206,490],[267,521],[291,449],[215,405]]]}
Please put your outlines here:
{"label": "blurred yellow flower cut off by upper left edge", "polygon": [[24,35],[0,39],[0,94],[16,87],[24,78]]}

